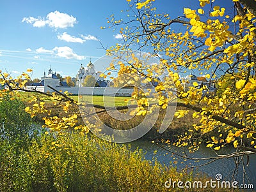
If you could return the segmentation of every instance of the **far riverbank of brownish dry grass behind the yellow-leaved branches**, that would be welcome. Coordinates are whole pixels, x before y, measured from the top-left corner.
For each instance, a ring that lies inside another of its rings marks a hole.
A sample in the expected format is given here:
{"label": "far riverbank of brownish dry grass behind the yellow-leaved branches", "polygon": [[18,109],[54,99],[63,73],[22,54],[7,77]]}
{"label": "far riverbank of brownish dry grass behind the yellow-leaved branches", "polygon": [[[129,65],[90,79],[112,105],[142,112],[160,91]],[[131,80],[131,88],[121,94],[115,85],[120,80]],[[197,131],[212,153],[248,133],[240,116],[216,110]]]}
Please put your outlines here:
{"label": "far riverbank of brownish dry grass behind the yellow-leaved branches", "polygon": [[[98,103],[100,103],[101,100],[99,100]],[[118,101],[118,106],[122,106],[122,103]],[[33,103],[27,103],[29,107],[33,108]],[[113,104],[112,104],[113,105]],[[66,117],[67,113],[63,111],[63,107],[60,105],[55,106],[52,102],[46,102],[44,105],[45,108],[50,108],[51,109],[51,114],[47,113],[41,113],[37,114],[34,118],[35,121],[40,122],[40,124],[44,124],[44,121],[42,120],[42,117],[45,117],[45,115],[49,117],[54,117],[58,116],[60,118]],[[95,108],[95,111],[100,111],[101,109]],[[182,107],[177,107],[177,110],[184,110]],[[120,110],[121,113],[126,113],[127,110]],[[79,121],[77,124],[84,124],[83,119],[81,118],[80,112],[79,112],[79,107],[77,105],[73,105],[72,107],[69,108],[68,114],[77,114],[78,118],[77,120]],[[164,133],[159,133],[159,128],[161,127],[161,124],[163,122],[165,115],[165,110],[161,109],[157,118],[157,121],[155,124],[148,124],[147,126],[152,127],[150,131],[146,135],[143,136],[142,139],[145,140],[161,140],[161,139],[169,139],[169,140],[176,140],[178,135],[182,135],[185,132],[188,132],[189,129],[193,128],[193,124],[198,123],[198,119],[193,119],[192,115],[193,112],[190,111],[188,112],[188,115],[184,118],[177,119],[176,117],[173,117],[172,122],[170,122],[170,125],[164,131]],[[140,115],[140,116],[134,116],[131,119],[127,121],[122,121],[122,120],[117,120],[111,115],[109,115],[107,112],[102,112],[98,114],[100,121],[102,121],[104,124],[109,126],[112,129],[117,129],[117,130],[127,130],[127,129],[132,129],[141,124],[143,122],[143,119],[145,116]]]}

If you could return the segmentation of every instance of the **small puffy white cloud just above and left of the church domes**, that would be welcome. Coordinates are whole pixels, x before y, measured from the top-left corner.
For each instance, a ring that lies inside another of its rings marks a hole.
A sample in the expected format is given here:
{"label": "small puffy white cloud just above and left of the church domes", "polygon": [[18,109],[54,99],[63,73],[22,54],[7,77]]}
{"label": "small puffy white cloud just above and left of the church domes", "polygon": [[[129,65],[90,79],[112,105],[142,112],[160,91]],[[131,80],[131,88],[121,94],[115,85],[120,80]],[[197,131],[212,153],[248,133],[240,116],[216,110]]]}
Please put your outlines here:
{"label": "small puffy white cloud just above and left of the church domes", "polygon": [[72,48],[70,47],[54,47],[52,49],[54,52],[56,52],[56,55],[58,57],[64,57],[66,59],[77,59],[77,60],[83,60],[85,59],[84,56],[82,55],[77,55],[76,53],[73,52]]}

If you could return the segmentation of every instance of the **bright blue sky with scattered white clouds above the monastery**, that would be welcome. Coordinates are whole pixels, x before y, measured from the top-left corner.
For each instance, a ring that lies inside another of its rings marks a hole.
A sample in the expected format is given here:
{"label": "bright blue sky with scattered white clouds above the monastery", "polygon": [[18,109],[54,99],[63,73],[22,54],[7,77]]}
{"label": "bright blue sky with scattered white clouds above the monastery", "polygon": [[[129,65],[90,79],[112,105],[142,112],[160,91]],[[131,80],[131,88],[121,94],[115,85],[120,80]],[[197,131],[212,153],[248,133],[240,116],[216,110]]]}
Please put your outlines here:
{"label": "bright blue sky with scattered white clouds above the monastery", "polygon": [[[197,0],[156,0],[159,13],[175,18],[183,7],[197,7]],[[81,63],[97,61],[105,54],[104,47],[120,42],[119,29],[100,29],[108,26],[106,18],[114,14],[124,18],[125,0],[98,1],[0,1],[0,70],[12,76],[27,68],[32,78],[42,77],[44,71],[75,77]],[[98,64],[97,71],[106,66]]]}

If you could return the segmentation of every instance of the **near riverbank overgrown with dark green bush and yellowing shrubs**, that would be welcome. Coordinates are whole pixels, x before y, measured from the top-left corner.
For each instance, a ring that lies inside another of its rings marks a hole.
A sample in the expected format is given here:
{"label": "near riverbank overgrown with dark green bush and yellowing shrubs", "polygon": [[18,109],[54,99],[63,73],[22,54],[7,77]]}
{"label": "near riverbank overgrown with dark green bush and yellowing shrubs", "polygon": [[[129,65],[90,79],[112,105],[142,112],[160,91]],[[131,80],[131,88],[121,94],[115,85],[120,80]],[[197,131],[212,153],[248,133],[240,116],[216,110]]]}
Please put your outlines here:
{"label": "near riverbank overgrown with dark green bush and yellowing shrubs", "polygon": [[[209,181],[201,174],[177,171],[174,162],[146,159],[145,151],[130,144],[109,143],[79,131],[55,135],[36,130],[24,103],[8,97],[1,101],[0,191],[184,191],[164,184],[169,179]],[[20,133],[12,134],[17,128]]]}

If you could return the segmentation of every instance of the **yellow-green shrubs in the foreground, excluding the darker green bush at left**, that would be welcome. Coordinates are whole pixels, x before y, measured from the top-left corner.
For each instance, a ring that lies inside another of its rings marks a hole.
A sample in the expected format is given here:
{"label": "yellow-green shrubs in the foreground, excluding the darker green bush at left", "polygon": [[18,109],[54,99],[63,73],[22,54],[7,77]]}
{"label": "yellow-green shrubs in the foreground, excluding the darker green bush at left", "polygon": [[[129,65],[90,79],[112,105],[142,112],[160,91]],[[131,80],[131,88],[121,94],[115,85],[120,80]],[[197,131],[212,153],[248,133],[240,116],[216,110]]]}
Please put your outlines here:
{"label": "yellow-green shrubs in the foreground, excluding the darker green bush at left", "polygon": [[75,133],[43,135],[20,156],[12,152],[1,156],[0,191],[168,191],[170,177],[191,180],[127,145]]}

